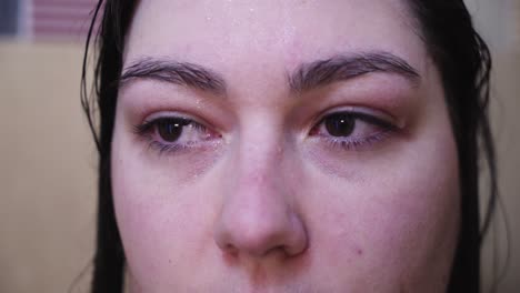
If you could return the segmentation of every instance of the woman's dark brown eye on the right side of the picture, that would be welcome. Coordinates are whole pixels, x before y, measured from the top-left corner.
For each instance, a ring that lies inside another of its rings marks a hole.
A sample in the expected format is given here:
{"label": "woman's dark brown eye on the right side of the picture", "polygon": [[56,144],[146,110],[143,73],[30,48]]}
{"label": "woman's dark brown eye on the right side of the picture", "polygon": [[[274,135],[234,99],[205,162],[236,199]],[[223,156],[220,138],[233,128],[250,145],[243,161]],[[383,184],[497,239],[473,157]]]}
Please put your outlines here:
{"label": "woman's dark brown eye on the right side of the picture", "polygon": [[397,127],[376,114],[342,111],[323,117],[310,135],[318,137],[332,146],[352,149],[380,141],[396,130]]}

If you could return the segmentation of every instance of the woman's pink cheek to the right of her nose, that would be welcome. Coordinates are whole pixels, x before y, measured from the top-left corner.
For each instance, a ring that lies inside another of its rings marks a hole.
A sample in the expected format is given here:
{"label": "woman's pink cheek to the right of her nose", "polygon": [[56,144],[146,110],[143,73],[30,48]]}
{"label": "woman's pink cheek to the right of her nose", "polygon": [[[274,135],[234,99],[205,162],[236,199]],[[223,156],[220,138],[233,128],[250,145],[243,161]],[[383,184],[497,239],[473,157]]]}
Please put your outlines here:
{"label": "woman's pink cheek to the right of her nose", "polygon": [[426,137],[388,156],[351,159],[334,166],[337,176],[317,168],[304,189],[312,190],[307,213],[323,264],[358,267],[368,285],[446,283],[458,233],[458,159],[450,131]]}

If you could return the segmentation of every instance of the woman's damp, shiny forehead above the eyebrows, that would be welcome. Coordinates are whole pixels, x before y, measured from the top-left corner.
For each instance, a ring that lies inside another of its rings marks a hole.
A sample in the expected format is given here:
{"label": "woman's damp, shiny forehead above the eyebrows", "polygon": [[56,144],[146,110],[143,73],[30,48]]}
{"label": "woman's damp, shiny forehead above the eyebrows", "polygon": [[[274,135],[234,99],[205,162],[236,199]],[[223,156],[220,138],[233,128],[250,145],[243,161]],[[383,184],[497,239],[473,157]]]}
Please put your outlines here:
{"label": "woman's damp, shiny forehead above the eyebrows", "polygon": [[143,0],[124,52],[219,69],[388,51],[423,68],[424,46],[398,0]]}

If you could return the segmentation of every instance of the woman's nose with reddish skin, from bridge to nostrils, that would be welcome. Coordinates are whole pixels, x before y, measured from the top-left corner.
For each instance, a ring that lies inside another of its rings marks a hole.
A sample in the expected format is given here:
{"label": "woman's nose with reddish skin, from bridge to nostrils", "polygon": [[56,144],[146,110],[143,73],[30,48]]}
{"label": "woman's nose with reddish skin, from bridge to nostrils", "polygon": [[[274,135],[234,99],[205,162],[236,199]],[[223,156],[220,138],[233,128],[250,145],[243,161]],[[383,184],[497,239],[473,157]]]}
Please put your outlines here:
{"label": "woman's nose with reddish skin, from bridge to nostrils", "polygon": [[297,209],[297,194],[283,184],[280,160],[251,156],[254,155],[242,156],[231,168],[234,180],[224,194],[216,224],[217,245],[230,255],[256,260],[303,253],[308,246],[307,230]]}

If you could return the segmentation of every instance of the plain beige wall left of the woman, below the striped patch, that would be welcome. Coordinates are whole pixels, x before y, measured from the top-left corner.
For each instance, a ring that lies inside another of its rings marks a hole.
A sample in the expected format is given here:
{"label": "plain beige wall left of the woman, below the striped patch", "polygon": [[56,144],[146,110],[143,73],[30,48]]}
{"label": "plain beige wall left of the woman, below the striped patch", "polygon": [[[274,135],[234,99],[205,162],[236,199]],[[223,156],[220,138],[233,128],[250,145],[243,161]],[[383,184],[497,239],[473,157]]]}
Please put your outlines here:
{"label": "plain beige wall left of the woman, below the striped patch", "polygon": [[91,259],[96,163],[81,51],[0,42],[0,292],[67,292]]}

